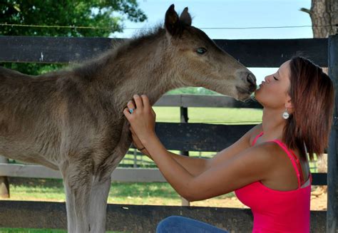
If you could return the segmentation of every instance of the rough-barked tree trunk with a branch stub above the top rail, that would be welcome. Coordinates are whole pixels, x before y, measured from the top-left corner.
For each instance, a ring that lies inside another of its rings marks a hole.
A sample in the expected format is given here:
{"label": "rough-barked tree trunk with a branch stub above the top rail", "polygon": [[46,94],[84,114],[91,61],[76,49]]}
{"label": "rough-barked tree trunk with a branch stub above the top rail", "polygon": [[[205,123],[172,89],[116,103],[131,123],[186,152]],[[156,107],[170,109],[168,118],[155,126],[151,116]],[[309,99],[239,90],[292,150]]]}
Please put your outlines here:
{"label": "rough-barked tree trunk with a branch stub above the top rail", "polygon": [[309,14],[314,38],[327,38],[337,33],[338,0],[312,0],[311,9],[300,9]]}

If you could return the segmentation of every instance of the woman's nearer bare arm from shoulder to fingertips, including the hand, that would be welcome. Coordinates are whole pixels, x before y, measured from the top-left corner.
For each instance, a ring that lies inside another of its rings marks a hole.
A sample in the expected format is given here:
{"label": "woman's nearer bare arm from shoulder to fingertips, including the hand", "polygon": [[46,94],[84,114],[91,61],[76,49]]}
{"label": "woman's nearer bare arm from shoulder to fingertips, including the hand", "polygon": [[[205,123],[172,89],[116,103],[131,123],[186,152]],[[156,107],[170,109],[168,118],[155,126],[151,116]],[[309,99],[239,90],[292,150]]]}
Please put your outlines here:
{"label": "woman's nearer bare arm from shoulder to fingertips, including the hand", "polygon": [[[156,165],[170,185],[185,199],[203,200],[231,192],[257,180],[264,180],[273,167],[269,150],[262,145],[250,147],[239,154],[212,165],[199,175],[189,172],[165,149],[155,135],[154,116],[146,96],[135,96],[137,110],[123,113],[140,141],[145,145]],[[220,160],[221,161],[221,160]]]}

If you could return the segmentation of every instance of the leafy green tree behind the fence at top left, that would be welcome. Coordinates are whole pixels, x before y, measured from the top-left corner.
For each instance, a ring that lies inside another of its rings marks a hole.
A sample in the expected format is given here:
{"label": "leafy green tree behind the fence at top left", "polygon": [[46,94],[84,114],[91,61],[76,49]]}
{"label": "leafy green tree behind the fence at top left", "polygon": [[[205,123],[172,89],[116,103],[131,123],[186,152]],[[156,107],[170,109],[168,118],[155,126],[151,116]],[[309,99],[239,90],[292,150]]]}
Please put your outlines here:
{"label": "leafy green tree behind the fence at top left", "polygon": [[[136,0],[0,0],[0,14],[0,24],[21,25],[0,26],[2,36],[107,37],[115,31],[123,31],[123,21],[147,19]],[[78,26],[96,29],[81,29]],[[56,64],[2,65],[29,74],[60,67]]]}

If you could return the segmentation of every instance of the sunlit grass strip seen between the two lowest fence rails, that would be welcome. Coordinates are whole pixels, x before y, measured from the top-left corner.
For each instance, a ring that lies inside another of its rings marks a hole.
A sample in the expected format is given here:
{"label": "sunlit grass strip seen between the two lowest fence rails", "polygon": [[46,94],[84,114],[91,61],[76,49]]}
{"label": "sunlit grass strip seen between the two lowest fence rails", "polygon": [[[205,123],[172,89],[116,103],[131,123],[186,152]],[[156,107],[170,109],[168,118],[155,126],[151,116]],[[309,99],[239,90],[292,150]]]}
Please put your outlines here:
{"label": "sunlit grass strip seen between the two lowest fence rails", "polygon": [[[12,200],[65,202],[62,180],[10,177],[9,182]],[[149,204],[153,199],[163,205],[180,202],[180,196],[165,182],[112,182],[108,196],[108,202],[116,204]]]}

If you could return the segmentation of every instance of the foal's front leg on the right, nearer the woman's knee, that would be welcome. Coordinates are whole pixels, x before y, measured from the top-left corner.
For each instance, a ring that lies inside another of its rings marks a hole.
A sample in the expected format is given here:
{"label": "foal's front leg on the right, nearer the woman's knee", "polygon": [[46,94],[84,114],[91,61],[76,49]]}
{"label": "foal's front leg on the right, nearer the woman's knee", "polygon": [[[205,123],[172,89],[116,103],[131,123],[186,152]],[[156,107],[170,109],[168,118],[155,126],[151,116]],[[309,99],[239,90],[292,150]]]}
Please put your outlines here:
{"label": "foal's front leg on the right, nearer the woman's knee", "polygon": [[99,180],[98,177],[93,178],[89,212],[91,232],[106,232],[107,199],[110,187],[110,176],[107,177],[105,180]]}

